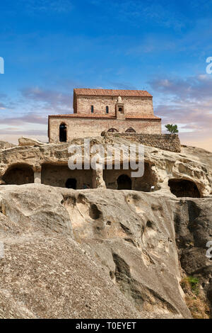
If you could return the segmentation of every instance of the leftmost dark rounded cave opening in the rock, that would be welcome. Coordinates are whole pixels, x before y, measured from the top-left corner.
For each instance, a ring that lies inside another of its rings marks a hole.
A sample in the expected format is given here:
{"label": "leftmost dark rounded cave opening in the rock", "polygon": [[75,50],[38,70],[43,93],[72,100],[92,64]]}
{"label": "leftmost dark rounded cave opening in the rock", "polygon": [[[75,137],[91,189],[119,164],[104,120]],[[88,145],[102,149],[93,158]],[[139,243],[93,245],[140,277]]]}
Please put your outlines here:
{"label": "leftmost dark rounded cave opening in the rock", "polygon": [[16,163],[8,167],[2,180],[8,185],[34,183],[34,171],[29,164]]}

